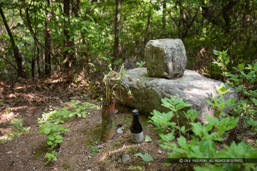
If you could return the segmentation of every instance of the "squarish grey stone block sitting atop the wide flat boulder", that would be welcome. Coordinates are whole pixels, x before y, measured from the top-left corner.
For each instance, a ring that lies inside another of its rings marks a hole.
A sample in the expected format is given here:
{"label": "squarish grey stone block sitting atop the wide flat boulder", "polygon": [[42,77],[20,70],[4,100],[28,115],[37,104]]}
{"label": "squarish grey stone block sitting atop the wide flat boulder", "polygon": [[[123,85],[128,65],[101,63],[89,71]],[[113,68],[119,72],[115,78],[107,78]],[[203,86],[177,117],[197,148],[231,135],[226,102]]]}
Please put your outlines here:
{"label": "squarish grey stone block sitting atop the wide flat boulder", "polygon": [[185,46],[180,39],[151,40],[145,45],[144,57],[150,77],[180,77],[187,66]]}

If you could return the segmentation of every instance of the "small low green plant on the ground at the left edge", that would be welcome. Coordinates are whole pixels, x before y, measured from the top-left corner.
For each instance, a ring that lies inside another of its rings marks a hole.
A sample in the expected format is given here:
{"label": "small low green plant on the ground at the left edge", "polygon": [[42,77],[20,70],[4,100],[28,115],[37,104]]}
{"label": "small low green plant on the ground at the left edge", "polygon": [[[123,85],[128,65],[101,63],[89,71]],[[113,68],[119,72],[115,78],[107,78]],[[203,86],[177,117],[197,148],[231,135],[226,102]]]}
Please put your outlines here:
{"label": "small low green plant on the ground at the left edge", "polygon": [[4,131],[4,134],[7,134],[7,139],[6,140],[0,139],[0,144],[3,144],[6,141],[9,141],[9,138],[13,139],[13,138],[17,138],[21,135],[29,133],[30,127],[23,128],[22,121],[23,121],[23,119],[21,119],[21,117],[13,118],[13,120],[11,120],[11,122],[9,123],[9,127],[15,127],[15,128],[12,128],[13,132],[11,132],[11,133],[7,133],[6,131]]}

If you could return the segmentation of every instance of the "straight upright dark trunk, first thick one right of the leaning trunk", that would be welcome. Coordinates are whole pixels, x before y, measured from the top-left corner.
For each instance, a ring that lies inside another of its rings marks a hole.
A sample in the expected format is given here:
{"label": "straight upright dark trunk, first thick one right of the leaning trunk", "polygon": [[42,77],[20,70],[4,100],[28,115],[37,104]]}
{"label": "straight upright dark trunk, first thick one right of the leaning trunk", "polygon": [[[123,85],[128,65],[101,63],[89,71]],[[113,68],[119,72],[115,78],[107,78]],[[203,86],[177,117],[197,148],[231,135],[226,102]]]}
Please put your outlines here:
{"label": "straight upright dark trunk, first thick one right of the leaning trunk", "polygon": [[[50,0],[47,0],[47,6],[50,6]],[[49,28],[49,23],[50,23],[50,14],[51,11],[47,11],[47,21],[45,22],[45,47],[47,49],[51,49],[51,30]],[[45,49],[45,75],[50,75],[51,74],[51,55],[50,52]]]}

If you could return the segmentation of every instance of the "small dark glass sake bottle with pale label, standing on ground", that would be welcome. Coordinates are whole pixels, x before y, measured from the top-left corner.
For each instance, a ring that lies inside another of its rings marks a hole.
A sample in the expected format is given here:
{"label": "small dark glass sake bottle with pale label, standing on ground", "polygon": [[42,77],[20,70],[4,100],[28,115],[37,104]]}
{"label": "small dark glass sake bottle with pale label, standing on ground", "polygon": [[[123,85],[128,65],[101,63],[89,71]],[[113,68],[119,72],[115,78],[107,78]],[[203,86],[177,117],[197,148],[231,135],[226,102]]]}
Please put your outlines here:
{"label": "small dark glass sake bottle with pale label, standing on ground", "polygon": [[132,114],[133,114],[133,120],[132,120],[132,125],[130,128],[131,141],[134,143],[139,143],[139,142],[143,141],[143,139],[144,139],[143,127],[139,122],[138,110],[137,109],[132,110]]}

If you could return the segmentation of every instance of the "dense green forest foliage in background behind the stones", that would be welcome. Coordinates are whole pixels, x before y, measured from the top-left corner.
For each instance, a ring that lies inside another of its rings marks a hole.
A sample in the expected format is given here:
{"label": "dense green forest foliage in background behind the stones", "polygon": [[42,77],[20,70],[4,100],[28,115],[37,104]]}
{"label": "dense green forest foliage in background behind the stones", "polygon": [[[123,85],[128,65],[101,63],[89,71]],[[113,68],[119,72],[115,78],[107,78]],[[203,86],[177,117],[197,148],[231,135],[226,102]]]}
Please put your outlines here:
{"label": "dense green forest foliage in background behind the stones", "polygon": [[[231,61],[228,66],[235,66],[237,61],[251,63],[255,60],[256,1],[238,1],[230,5],[225,1],[165,1],[166,7],[163,2],[158,1],[121,2],[123,17],[118,33],[119,58],[115,60],[112,53],[116,5],[113,2],[83,1],[79,4],[64,4],[63,1],[54,1],[48,5],[47,1],[3,1],[1,4],[15,43],[19,47],[22,68],[27,77],[32,76],[32,61],[37,55],[42,56],[47,52],[40,44],[37,51],[36,45],[44,42],[46,25],[49,25],[51,32],[50,51],[54,51],[55,59],[51,63],[51,69],[57,72],[67,69],[66,60],[72,64],[69,69],[85,69],[89,73],[105,71],[105,66],[112,62],[120,66],[126,61],[138,61],[143,57],[141,51],[148,40],[165,37],[180,38],[187,53],[190,54],[190,69],[206,72],[211,76],[216,76],[215,74],[221,71],[214,65],[206,67],[209,61],[207,59],[213,56],[208,49],[232,49],[230,55],[237,60]],[[70,8],[72,6],[72,13],[69,16],[60,9],[66,5]],[[46,19],[48,11],[51,11],[51,16],[54,17]],[[33,23],[31,28],[28,19]],[[16,64],[10,37],[3,24],[0,30],[0,63],[5,66],[0,68],[0,77],[14,78],[17,71],[12,66],[16,67]],[[38,41],[34,40],[34,36]],[[68,58],[64,60],[63,55],[66,52]],[[225,55],[223,52],[215,51],[215,54]],[[224,65],[222,60],[219,60],[217,63]],[[43,65],[44,61],[40,59],[39,66],[35,67],[36,75],[40,69],[42,71]]]}

